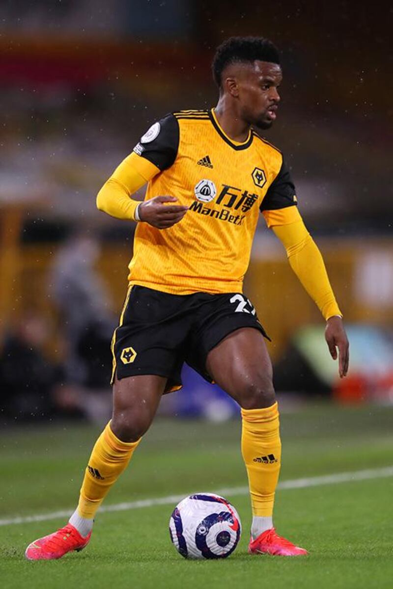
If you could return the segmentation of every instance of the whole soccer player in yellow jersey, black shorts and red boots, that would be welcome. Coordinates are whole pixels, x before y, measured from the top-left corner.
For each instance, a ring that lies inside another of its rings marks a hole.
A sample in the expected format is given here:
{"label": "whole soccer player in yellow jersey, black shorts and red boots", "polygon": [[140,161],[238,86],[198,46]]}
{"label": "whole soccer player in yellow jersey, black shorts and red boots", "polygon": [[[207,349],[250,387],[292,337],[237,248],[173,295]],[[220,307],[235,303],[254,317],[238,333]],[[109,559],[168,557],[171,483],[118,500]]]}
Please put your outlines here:
{"label": "whole soccer player in yellow jersey, black shorts and red boots", "polygon": [[[173,112],[154,123],[98,193],[98,209],[137,221],[130,286],[112,340],[113,416],[95,443],[70,521],[32,542],[30,560],[60,558],[87,545],[95,513],[150,426],[161,395],[181,387],[183,362],[242,409],[253,514],[249,552],[307,554],[280,537],[272,521],[279,412],[267,336],[242,292],[259,211],[326,320],[326,342],[339,358],[341,377],[348,370],[348,340],[283,155],[254,130],[268,129],[277,117],[278,50],[263,38],[227,39],[217,48],[213,76],[217,106]],[[146,183],[143,203],[130,198]]]}

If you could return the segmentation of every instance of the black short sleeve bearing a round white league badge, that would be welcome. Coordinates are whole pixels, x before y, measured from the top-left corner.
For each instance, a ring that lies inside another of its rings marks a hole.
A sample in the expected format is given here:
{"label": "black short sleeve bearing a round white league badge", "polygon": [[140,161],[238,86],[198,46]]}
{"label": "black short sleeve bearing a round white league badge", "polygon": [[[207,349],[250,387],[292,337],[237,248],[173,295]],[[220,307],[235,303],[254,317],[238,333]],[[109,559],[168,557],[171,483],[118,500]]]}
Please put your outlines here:
{"label": "black short sleeve bearing a round white league badge", "polygon": [[173,114],[169,114],[151,125],[133,151],[163,171],[176,160],[178,148],[179,123]]}

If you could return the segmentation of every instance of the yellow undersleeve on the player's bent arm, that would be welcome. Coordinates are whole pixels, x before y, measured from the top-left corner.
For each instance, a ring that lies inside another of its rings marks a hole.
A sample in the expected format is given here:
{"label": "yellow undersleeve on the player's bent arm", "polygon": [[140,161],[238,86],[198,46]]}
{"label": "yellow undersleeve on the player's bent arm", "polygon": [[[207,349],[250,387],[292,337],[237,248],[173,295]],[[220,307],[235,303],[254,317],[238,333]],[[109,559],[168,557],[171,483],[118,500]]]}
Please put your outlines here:
{"label": "yellow undersleeve on the player's bent arm", "polygon": [[146,158],[131,153],[97,194],[97,209],[116,219],[135,220],[135,211],[140,201],[133,200],[130,195],[158,173],[159,168]]}

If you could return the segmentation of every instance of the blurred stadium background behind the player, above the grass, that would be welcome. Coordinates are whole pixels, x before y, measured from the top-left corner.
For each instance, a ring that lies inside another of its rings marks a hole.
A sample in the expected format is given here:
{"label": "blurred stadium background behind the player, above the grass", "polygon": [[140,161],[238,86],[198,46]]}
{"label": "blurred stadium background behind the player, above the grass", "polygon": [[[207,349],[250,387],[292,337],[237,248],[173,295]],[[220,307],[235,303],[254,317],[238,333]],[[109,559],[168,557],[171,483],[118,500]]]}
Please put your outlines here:
{"label": "blurred stadium background behind the player, above the grass", "polygon": [[[261,219],[246,293],[273,340],[276,387],[291,399],[392,402],[389,19],[344,1],[239,6],[1,3],[2,422],[107,415],[108,342],[134,226],[97,211],[95,194],[157,117],[214,105],[210,60],[232,34],[266,35],[282,51],[280,116],[267,136],[292,168],[351,339],[339,382],[318,309]],[[235,411],[187,369],[185,382],[161,411]]]}

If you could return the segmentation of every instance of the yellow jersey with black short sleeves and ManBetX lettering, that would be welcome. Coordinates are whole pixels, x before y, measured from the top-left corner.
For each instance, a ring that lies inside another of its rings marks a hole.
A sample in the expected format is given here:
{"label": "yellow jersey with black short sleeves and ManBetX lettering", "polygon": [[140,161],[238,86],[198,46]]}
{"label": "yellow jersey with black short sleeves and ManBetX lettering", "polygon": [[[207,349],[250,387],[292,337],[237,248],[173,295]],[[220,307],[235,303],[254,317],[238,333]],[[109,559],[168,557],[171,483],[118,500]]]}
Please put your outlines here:
{"label": "yellow jersey with black short sleeves and ManBetX lettering", "polygon": [[269,224],[269,214],[296,206],[282,153],[254,130],[233,141],[214,110],[167,115],[134,153],[140,170],[143,159],[158,168],[145,200],[174,196],[189,210],[169,229],[138,223],[130,283],[173,294],[242,292],[259,212]]}

